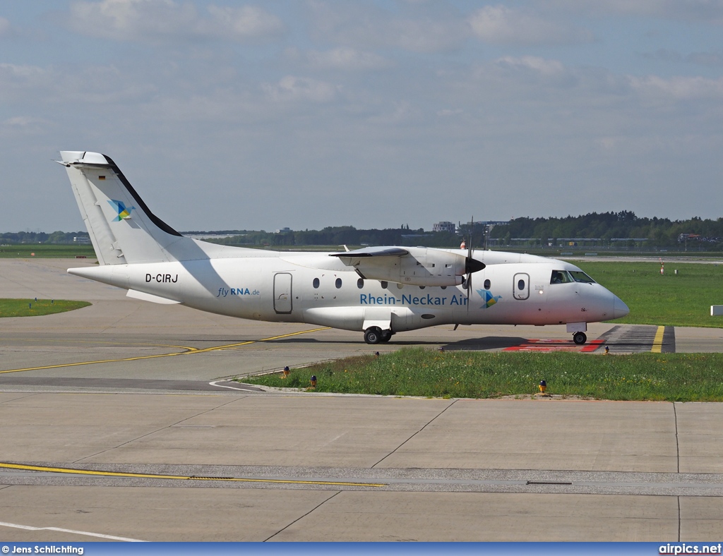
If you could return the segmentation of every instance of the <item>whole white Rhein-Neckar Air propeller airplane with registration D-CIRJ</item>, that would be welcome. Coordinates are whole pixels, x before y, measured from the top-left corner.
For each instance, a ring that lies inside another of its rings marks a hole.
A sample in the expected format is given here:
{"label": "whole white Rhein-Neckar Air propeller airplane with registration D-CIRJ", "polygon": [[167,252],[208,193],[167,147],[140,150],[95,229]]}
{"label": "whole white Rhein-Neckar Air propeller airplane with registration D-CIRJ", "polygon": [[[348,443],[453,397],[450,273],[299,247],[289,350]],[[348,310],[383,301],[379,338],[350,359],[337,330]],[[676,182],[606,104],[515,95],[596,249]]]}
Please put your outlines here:
{"label": "whole white Rhein-Neckar Air propeller airplane with registration D-CIRJ", "polygon": [[110,157],[61,158],[99,263],[68,272],[128,297],[364,331],[367,344],[439,324],[566,324],[584,344],[587,323],[629,312],[577,266],[539,256],[424,247],[283,253],[187,238],[150,212]]}

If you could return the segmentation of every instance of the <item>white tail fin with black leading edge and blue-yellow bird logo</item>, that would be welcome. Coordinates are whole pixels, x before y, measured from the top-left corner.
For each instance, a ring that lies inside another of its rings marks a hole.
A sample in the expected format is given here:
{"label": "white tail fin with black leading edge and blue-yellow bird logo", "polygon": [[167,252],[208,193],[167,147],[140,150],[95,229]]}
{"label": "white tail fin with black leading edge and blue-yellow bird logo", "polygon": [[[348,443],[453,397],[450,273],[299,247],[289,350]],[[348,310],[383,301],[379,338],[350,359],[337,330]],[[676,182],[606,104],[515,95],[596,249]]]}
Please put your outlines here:
{"label": "white tail fin with black leading edge and blue-yellow bird logo", "polygon": [[197,243],[150,212],[110,157],[99,152],[60,154],[100,264],[199,258]]}

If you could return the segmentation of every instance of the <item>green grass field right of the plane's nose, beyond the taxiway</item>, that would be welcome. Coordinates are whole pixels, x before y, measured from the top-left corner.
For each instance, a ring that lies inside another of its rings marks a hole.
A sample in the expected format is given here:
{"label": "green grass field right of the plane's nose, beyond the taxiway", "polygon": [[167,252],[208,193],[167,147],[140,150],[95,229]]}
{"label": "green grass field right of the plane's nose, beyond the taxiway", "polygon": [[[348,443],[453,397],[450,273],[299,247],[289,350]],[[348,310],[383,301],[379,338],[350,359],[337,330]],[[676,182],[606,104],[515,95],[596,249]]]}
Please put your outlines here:
{"label": "green grass field right of the plane's nose, beyond the taxiway", "polygon": [[578,266],[630,308],[615,323],[723,327],[723,317],[711,317],[711,305],[723,305],[723,263],[667,263],[663,275],[657,262]]}

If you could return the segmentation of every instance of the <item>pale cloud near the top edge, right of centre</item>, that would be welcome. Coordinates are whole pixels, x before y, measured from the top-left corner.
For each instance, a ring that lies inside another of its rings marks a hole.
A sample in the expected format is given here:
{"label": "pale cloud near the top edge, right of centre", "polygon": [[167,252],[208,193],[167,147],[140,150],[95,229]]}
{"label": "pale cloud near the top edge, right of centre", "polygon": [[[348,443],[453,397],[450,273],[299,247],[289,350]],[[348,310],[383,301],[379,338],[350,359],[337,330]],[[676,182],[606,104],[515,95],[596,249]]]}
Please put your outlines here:
{"label": "pale cloud near the top edge, right of centre", "polygon": [[469,17],[474,35],[495,44],[565,44],[593,40],[592,33],[506,6],[484,6]]}

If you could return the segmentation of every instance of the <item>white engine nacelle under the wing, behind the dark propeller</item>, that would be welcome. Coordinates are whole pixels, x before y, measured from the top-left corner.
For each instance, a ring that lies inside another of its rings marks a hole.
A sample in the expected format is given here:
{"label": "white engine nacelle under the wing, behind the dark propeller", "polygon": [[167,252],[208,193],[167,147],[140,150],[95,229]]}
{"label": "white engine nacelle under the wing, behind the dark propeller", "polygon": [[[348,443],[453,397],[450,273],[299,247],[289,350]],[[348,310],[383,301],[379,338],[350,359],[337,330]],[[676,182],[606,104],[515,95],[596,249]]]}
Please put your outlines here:
{"label": "white engine nacelle under the wing, behind the dark propeller", "polygon": [[[484,268],[484,264],[466,256],[426,247],[380,248],[335,253],[344,264],[354,266],[362,277],[413,286],[458,286],[468,272]],[[404,253],[406,251],[406,253]],[[400,254],[404,253],[404,254]]]}

